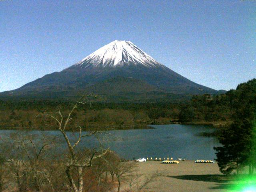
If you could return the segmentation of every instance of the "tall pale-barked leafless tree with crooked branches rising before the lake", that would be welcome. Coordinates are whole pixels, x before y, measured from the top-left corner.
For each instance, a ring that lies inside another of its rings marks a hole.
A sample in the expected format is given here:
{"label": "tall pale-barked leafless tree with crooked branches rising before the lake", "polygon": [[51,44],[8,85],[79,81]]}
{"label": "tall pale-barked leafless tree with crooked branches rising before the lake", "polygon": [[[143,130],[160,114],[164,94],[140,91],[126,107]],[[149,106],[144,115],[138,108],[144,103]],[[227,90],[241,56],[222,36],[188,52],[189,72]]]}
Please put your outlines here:
{"label": "tall pale-barked leafless tree with crooked branches rising before the lake", "polygon": [[[84,176],[85,168],[92,166],[93,160],[104,156],[108,152],[108,149],[104,150],[101,148],[101,150],[99,152],[94,150],[94,151],[92,151],[92,153],[90,155],[84,156],[83,158],[81,158],[78,156],[78,152],[75,150],[82,138],[89,137],[89,136],[92,136],[92,135],[95,135],[98,133],[102,133],[102,131],[91,131],[88,134],[82,134],[82,127],[77,126],[76,129],[73,129],[73,130],[78,130],[79,136],[74,143],[71,142],[70,137],[66,133],[66,128],[67,128],[68,124],[70,123],[70,121],[72,120],[72,114],[74,113],[74,110],[76,110],[76,108],[78,108],[78,105],[85,104],[83,102],[84,98],[87,98],[90,96],[94,97],[93,95],[86,95],[86,96],[83,96],[78,102],[76,102],[74,104],[73,108],[68,113],[68,116],[66,118],[64,118],[60,109],[58,111],[57,116],[54,116],[52,114],[46,114],[46,113],[41,114],[44,116],[48,116],[57,122],[58,130],[61,132],[62,136],[64,137],[64,139],[66,141],[70,158],[66,162],[66,171],[65,172],[66,172],[66,175],[70,182],[70,187],[72,188],[72,190],[74,192],[83,192],[83,189],[84,189],[83,176]],[[75,172],[75,174],[73,174],[74,172]],[[77,183],[75,181],[76,177],[78,178]]]}

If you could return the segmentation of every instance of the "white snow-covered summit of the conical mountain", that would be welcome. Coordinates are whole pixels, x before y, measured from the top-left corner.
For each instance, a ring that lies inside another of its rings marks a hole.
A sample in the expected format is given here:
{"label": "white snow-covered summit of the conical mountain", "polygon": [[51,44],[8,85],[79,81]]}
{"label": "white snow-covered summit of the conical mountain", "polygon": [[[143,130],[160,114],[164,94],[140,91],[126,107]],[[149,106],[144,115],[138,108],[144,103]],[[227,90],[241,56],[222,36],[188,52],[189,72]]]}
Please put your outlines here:
{"label": "white snow-covered summit of the conical mountain", "polygon": [[142,64],[148,67],[163,66],[132,42],[119,40],[99,48],[76,65],[86,68],[90,65],[115,67],[131,64]]}

